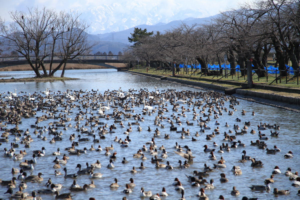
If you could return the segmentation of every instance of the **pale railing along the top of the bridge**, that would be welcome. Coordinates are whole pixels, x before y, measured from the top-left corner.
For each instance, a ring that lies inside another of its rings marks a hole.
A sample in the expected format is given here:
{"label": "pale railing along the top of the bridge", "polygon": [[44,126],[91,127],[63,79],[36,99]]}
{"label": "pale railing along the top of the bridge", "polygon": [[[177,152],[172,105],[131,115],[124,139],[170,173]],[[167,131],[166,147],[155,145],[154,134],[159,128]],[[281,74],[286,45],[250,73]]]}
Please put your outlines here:
{"label": "pale railing along the top of the bridge", "polygon": [[[31,56],[30,60],[35,60],[35,56]],[[122,55],[81,55],[77,58],[74,58],[73,60],[122,60]],[[20,61],[20,60],[27,60],[24,56],[19,57],[0,57],[1,62],[5,61]],[[44,58],[44,60],[51,60],[51,56],[47,56]],[[54,56],[53,60],[61,60],[60,57]]]}

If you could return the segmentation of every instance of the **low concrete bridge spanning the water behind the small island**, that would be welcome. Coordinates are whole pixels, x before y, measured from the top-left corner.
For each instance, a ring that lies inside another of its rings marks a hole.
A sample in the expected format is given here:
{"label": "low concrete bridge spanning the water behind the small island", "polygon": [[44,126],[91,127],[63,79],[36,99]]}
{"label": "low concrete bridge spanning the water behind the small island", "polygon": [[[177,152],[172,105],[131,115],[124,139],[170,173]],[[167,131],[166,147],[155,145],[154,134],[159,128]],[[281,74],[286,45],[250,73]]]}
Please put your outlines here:
{"label": "low concrete bridge spanning the water behind the small island", "polygon": [[[35,56],[32,56],[31,60],[34,62]],[[45,64],[50,63],[50,61],[50,56],[44,59]],[[60,62],[61,58],[59,58],[58,56],[53,57],[53,63]],[[118,71],[126,69],[123,56],[120,55],[82,55],[73,60],[68,60],[67,63],[98,65],[113,68]],[[0,68],[24,64],[29,65],[25,57],[0,57]]]}

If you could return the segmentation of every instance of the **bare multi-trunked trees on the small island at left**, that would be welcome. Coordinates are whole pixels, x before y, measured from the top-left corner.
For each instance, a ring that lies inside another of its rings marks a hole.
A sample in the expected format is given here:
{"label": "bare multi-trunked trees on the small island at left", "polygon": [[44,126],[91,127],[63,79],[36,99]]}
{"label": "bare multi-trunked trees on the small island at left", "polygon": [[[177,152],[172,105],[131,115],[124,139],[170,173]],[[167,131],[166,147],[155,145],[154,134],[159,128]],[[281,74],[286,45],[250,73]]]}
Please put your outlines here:
{"label": "bare multi-trunked trees on the small island at left", "polygon": [[[36,7],[9,14],[9,24],[0,18],[0,42],[7,50],[25,57],[37,77],[53,76],[61,67],[63,77],[68,60],[89,54],[96,45],[88,42],[85,31],[89,25],[79,19],[78,13]],[[47,71],[45,59],[49,57]],[[60,63],[52,68],[54,57],[60,58]]]}

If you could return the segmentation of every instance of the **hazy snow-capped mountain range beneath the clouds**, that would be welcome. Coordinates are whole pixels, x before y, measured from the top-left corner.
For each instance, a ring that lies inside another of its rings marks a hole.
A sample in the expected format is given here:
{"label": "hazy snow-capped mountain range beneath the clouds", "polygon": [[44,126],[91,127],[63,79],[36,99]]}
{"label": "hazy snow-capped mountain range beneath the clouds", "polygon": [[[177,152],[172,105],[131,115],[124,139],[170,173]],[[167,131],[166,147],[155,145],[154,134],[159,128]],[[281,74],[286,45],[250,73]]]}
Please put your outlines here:
{"label": "hazy snow-capped mountain range beneath the clouds", "polygon": [[189,17],[208,16],[205,10],[199,10],[196,7],[183,10],[182,5],[173,1],[158,3],[128,1],[85,8],[77,7],[72,10],[82,13],[80,18],[90,24],[91,34],[123,31],[140,24],[155,25]]}

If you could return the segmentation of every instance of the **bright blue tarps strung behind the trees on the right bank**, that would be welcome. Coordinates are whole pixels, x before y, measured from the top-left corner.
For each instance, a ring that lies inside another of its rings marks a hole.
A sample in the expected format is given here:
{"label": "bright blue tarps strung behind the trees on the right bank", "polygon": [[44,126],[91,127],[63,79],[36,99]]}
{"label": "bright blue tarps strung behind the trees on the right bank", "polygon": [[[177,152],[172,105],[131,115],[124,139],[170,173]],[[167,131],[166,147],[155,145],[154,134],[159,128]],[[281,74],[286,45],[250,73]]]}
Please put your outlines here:
{"label": "bright blue tarps strung behind the trees on the right bank", "polygon": [[[294,74],[294,72],[292,71],[292,70],[293,70],[292,67],[290,67],[290,66],[288,66],[288,65],[285,65],[285,66],[286,66],[286,69],[289,70],[289,74]],[[200,65],[200,64],[198,64],[198,65],[192,65],[192,66],[191,66],[191,65],[187,65],[187,68],[191,68],[191,67],[193,67],[193,69],[200,69],[200,68],[201,68],[201,65]],[[208,67],[208,69],[211,69],[211,70],[217,70],[217,69],[220,70],[219,65],[215,65],[215,64],[213,64],[213,65],[208,64],[207,67]],[[224,63],[224,64],[221,65],[221,67],[222,67],[222,68],[230,69],[230,64],[226,65],[226,64]],[[254,67],[253,64],[252,64],[252,67]],[[185,67],[184,67],[183,64],[180,64],[180,65],[179,65],[179,68],[185,68]],[[236,71],[241,72],[241,70],[239,70],[239,69],[240,69],[240,66],[239,66],[239,65],[236,65],[235,68],[238,68],[238,69],[236,69]],[[265,68],[265,67],[264,67],[264,68]],[[266,69],[266,68],[265,68],[265,69]],[[273,70],[274,70],[274,71],[273,71]],[[273,67],[272,65],[270,65],[270,66],[268,67],[268,73],[271,73],[271,74],[276,73],[275,70],[278,70],[278,67]],[[254,73],[254,70],[252,70],[252,73]],[[277,73],[279,73],[279,72],[277,72]]]}

